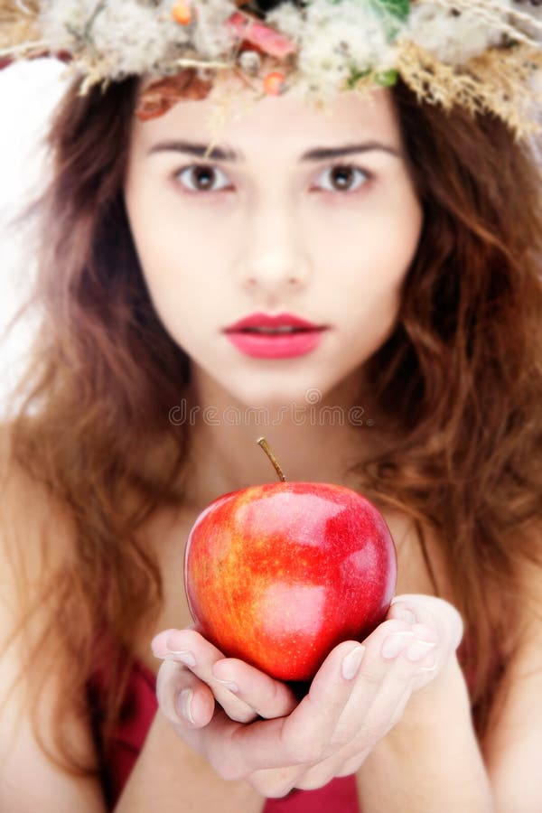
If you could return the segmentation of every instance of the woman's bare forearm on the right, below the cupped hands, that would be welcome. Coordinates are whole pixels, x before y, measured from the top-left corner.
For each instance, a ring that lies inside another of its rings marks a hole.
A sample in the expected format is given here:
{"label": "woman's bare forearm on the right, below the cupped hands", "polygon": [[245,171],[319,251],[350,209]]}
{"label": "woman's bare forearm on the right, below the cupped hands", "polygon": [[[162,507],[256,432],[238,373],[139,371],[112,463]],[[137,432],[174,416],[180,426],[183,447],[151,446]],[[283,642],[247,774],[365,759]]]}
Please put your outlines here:
{"label": "woman's bare forearm on the right, below the cupped hands", "polygon": [[[392,785],[390,776],[396,778]],[[410,696],[401,720],[361,766],[357,784],[366,813],[494,813],[455,657],[435,681]]]}

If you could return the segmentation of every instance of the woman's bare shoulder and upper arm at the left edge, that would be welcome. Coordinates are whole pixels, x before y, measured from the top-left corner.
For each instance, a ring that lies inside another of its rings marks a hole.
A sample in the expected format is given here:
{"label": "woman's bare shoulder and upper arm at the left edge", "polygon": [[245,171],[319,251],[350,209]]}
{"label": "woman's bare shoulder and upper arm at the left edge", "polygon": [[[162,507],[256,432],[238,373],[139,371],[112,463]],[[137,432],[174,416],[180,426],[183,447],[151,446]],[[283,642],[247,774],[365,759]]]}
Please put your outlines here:
{"label": "woman's bare shoulder and upper arm at the left edge", "polygon": [[[0,809],[21,813],[103,813],[98,781],[62,770],[46,755],[54,740],[49,710],[62,692],[61,664],[52,668],[33,708],[27,653],[48,629],[40,603],[49,576],[70,541],[70,523],[46,490],[17,465],[9,425],[0,424]],[[53,544],[48,545],[48,540]],[[36,612],[32,612],[37,607]],[[33,721],[35,725],[33,725]],[[66,718],[80,758],[96,759],[90,727],[80,712]],[[32,781],[28,781],[32,776]]]}

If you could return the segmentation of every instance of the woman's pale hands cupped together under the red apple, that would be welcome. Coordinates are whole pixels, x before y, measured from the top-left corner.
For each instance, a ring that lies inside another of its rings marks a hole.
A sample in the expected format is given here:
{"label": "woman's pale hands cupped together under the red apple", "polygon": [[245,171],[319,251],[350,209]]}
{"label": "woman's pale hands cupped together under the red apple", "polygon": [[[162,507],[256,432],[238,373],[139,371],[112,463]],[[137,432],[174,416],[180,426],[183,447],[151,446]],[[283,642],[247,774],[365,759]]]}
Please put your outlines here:
{"label": "woman's pale hands cupped together under the red apple", "polygon": [[154,654],[164,659],[158,702],[222,778],[280,797],[357,771],[401,720],[410,697],[430,691],[456,665],[462,637],[452,604],[397,596],[362,644],[347,640],[332,649],[297,703],[285,684],[224,658],[197,629],[166,630],[153,640]]}

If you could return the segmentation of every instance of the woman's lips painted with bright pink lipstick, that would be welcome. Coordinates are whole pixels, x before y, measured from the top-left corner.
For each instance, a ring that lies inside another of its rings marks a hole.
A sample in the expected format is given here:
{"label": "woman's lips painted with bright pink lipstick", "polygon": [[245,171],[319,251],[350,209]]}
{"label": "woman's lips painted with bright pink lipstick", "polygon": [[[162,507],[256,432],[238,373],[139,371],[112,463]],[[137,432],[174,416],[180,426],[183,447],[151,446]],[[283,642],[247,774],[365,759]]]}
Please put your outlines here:
{"label": "woman's lips painted with bright pink lipstick", "polygon": [[229,341],[247,356],[291,359],[310,353],[322,341],[327,325],[308,322],[293,313],[251,313],[226,328]]}

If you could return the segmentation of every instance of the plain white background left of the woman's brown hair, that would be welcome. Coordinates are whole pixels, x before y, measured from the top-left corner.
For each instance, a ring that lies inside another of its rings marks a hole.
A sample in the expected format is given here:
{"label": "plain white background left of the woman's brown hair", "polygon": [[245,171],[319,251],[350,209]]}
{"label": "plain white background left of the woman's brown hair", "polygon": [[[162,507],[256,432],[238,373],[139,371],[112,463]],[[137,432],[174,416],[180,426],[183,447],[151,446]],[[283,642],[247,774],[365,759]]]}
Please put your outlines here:
{"label": "plain white background left of the woman's brown hair", "polygon": [[53,59],[0,70],[0,419],[7,416],[6,396],[23,369],[35,322],[29,314],[4,336],[33,276],[24,231],[15,236],[5,224],[48,178],[42,138],[66,83],[66,66]]}

